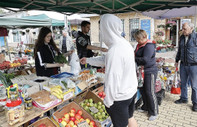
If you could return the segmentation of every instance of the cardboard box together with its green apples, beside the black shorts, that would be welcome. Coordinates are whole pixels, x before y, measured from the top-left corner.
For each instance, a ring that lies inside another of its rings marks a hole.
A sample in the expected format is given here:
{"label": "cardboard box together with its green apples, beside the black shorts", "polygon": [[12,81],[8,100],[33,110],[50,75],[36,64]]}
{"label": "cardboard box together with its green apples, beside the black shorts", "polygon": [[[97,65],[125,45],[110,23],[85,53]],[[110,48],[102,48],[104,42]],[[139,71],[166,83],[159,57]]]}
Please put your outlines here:
{"label": "cardboard box together with its green apples, beside the black shorts", "polygon": [[[84,110],[86,110],[94,118],[94,120],[99,123],[99,127],[111,126],[112,122],[105,110],[103,101],[92,91],[87,91],[80,94],[74,99],[74,101],[83,107]],[[100,113],[98,114],[98,112]]]}

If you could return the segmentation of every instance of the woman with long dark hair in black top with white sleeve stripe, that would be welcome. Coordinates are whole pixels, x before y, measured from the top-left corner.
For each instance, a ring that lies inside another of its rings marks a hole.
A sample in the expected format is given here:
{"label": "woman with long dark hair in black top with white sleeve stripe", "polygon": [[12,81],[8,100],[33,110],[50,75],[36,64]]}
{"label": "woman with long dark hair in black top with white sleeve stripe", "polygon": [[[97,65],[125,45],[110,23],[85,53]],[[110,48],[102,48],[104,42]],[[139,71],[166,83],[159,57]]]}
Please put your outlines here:
{"label": "woman with long dark hair in black top with white sleeve stripe", "polygon": [[42,27],[34,48],[37,76],[50,77],[58,74],[59,67],[63,67],[63,64],[54,62],[55,54],[58,53],[59,49],[53,41],[51,30],[48,27]]}

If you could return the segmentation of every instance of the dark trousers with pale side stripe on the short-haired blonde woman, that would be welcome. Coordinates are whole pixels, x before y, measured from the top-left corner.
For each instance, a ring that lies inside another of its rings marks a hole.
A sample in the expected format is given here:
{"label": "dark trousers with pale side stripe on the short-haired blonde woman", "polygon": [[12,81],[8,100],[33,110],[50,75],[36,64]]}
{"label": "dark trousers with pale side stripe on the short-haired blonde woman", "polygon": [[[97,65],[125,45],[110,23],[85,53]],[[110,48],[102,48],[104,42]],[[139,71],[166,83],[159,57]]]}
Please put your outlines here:
{"label": "dark trousers with pale side stripe on the short-haired blonde woman", "polygon": [[142,109],[148,111],[149,115],[158,114],[158,103],[155,95],[156,78],[157,72],[144,73],[144,85],[140,88],[140,93],[143,100]]}

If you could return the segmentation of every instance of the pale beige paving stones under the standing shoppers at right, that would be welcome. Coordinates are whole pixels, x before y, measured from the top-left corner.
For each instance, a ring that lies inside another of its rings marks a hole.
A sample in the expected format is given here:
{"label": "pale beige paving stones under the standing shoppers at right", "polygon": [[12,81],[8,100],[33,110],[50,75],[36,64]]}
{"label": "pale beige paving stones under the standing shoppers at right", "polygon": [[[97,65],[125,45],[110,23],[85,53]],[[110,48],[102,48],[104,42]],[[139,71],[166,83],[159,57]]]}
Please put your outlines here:
{"label": "pale beige paving stones under the standing shoppers at right", "polygon": [[149,121],[147,113],[135,111],[134,117],[139,127],[197,127],[197,112],[192,111],[191,88],[189,88],[188,104],[175,104],[179,95],[166,92],[159,106],[158,119]]}

